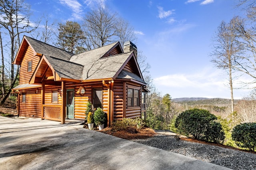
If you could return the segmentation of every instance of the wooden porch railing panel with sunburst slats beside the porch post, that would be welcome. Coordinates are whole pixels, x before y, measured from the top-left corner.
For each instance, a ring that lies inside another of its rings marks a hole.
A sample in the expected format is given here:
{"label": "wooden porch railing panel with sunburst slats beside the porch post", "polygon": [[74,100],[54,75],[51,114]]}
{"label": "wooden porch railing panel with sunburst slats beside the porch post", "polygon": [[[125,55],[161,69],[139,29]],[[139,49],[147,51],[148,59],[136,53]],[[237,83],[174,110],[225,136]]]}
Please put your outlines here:
{"label": "wooden porch railing panel with sunburst slats beside the porch post", "polygon": [[61,121],[61,105],[42,105],[43,119]]}

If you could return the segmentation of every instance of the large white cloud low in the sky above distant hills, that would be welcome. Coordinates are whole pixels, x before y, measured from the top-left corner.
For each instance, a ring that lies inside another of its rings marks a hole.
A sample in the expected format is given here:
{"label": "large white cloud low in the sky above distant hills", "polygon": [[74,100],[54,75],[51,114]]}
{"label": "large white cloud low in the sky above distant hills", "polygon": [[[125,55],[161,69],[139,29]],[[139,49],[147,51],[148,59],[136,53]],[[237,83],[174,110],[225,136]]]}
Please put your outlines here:
{"label": "large white cloud low in the sky above distant hills", "polygon": [[[226,75],[221,70],[206,67],[199,72],[176,73],[154,78],[154,84],[162,94],[179,97],[230,98]],[[226,85],[225,85],[226,84]],[[234,85],[237,85],[234,82]],[[234,98],[240,99],[250,90],[234,89]]]}

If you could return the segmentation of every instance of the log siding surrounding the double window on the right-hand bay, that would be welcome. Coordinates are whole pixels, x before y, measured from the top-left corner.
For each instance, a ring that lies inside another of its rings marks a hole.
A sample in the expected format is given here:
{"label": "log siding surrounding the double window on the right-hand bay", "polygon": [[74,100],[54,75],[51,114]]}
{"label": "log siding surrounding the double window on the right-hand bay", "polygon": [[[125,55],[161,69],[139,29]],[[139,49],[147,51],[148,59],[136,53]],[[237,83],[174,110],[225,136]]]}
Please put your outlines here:
{"label": "log siding surrounding the double window on the right-hand bay", "polygon": [[[136,85],[134,83],[127,83],[127,87],[133,88],[133,87],[139,87],[141,88],[139,85]],[[128,88],[126,88],[126,113],[125,113],[125,117],[126,118],[136,118],[136,117],[141,117],[141,107],[132,107],[132,108],[127,108],[127,91]],[[140,91],[141,92],[141,91]],[[141,94],[140,94],[140,101],[141,101]],[[141,102],[140,102],[141,105]]]}

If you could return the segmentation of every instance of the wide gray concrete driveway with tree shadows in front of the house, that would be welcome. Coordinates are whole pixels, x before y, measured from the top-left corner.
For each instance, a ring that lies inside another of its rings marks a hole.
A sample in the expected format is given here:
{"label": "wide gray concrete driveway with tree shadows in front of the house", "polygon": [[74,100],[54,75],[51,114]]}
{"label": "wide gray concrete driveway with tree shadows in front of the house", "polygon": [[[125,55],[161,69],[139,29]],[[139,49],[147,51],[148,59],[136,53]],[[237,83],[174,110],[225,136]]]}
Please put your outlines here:
{"label": "wide gray concrete driveway with tree shadows in front of the house", "polygon": [[1,170],[228,169],[66,122],[0,117]]}

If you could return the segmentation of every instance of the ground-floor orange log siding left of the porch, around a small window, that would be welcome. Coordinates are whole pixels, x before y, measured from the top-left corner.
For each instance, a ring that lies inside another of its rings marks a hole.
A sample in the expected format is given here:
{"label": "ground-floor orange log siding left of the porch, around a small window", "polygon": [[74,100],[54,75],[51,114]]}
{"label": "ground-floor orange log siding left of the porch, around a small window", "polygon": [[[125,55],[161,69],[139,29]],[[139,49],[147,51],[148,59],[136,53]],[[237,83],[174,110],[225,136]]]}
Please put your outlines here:
{"label": "ground-floor orange log siding left of the porch, around a small window", "polygon": [[[26,93],[26,103],[22,103],[22,93]],[[24,117],[41,117],[41,88],[24,90],[20,93],[19,115]]]}

